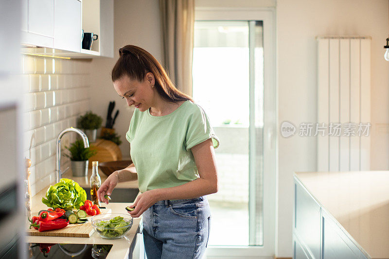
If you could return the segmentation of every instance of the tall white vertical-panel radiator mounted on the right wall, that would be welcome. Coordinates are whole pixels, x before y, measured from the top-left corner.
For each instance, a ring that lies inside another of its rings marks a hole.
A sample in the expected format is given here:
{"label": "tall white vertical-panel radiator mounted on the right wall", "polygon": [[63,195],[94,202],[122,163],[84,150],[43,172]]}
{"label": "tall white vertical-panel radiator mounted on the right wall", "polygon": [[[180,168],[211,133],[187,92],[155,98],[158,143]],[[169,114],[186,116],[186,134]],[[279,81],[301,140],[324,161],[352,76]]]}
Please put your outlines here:
{"label": "tall white vertical-panel radiator mounted on the right wall", "polygon": [[[370,170],[371,37],[317,41],[318,123],[326,129],[324,136],[317,135],[317,170]],[[340,136],[334,134],[336,125]]]}

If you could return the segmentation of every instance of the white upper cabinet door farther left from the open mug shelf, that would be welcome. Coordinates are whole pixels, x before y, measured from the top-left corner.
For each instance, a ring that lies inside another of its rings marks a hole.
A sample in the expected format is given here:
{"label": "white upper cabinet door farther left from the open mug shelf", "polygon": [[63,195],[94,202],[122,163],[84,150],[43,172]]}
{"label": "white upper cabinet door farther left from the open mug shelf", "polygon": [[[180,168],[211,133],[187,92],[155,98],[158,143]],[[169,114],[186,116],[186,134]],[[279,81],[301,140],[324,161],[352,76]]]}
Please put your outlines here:
{"label": "white upper cabinet door farther left from the open mug shelf", "polygon": [[28,32],[54,37],[54,0],[28,0]]}

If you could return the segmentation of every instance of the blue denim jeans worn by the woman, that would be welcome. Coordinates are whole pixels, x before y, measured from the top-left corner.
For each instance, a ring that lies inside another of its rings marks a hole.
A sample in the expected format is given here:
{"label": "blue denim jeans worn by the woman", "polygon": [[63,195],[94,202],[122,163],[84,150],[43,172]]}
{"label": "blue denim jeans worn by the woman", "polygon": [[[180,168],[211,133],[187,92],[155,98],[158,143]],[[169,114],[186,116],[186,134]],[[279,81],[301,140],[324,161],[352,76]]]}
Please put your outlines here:
{"label": "blue denim jeans worn by the woman", "polygon": [[205,196],[163,200],[142,214],[147,259],[201,259],[208,244],[211,209]]}

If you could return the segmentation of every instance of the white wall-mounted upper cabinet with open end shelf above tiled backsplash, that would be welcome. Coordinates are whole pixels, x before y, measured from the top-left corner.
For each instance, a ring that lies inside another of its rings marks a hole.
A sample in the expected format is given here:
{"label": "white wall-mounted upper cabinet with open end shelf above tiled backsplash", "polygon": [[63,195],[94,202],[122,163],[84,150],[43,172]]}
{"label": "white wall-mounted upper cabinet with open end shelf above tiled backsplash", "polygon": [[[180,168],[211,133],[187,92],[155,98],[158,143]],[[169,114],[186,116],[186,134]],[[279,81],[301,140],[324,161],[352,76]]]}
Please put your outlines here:
{"label": "white wall-mounted upper cabinet with open end shelf above tiled backsplash", "polygon": [[[48,48],[45,55],[113,57],[113,0],[20,1],[22,44]],[[90,50],[81,48],[82,30],[98,37]]]}

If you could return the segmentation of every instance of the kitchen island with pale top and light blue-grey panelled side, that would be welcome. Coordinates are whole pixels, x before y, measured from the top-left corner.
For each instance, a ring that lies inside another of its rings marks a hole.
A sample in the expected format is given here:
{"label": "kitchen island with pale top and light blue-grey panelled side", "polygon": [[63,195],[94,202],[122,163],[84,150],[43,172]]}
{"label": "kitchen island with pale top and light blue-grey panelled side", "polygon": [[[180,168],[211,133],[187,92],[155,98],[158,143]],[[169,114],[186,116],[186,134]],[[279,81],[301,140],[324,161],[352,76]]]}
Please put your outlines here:
{"label": "kitchen island with pale top and light blue-grey panelled side", "polygon": [[295,173],[294,258],[389,258],[389,171]]}

